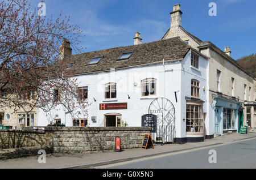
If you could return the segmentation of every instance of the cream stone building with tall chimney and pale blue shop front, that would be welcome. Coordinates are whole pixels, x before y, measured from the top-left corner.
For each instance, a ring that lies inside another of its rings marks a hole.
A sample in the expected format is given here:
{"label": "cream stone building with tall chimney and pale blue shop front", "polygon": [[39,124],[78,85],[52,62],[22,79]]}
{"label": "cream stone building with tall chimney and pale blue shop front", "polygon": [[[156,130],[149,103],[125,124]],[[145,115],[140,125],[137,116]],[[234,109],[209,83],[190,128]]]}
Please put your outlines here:
{"label": "cream stone building with tall chimney and pale blue shop front", "polygon": [[[209,112],[206,118],[209,121],[206,123],[209,126],[208,133],[239,132],[241,126],[255,127],[254,76],[231,57],[230,47],[222,51],[212,42],[202,41],[181,27],[182,14],[180,5],[174,5],[171,27],[162,39],[180,37],[209,59]],[[200,68],[193,69],[200,72]]]}

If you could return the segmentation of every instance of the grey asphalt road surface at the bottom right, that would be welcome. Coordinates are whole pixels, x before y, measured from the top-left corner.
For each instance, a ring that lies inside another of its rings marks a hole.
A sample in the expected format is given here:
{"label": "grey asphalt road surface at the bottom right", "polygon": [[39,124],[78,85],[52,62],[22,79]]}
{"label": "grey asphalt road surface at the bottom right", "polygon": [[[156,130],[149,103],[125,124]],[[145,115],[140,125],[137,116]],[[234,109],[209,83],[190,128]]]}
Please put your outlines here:
{"label": "grey asphalt road surface at the bottom right", "polygon": [[[216,163],[210,150],[216,151]],[[255,169],[256,168],[256,139],[243,140],[241,142],[226,145],[216,145],[215,147],[191,150],[185,152],[171,153],[141,160],[121,162],[113,165],[106,165],[97,168],[104,169]]]}

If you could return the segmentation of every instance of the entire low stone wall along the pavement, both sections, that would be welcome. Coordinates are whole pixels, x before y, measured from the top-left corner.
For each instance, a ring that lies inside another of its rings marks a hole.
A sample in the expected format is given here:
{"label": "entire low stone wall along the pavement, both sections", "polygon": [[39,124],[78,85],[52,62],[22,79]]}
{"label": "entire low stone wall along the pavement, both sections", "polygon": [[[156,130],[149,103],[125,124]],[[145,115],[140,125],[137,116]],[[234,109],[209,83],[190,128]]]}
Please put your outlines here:
{"label": "entire low stone wall along the pavement, both sections", "polygon": [[[46,147],[52,149],[53,153],[108,151],[115,148],[115,137],[121,138],[122,149],[140,148],[144,135],[150,134],[150,129],[151,127],[46,127],[44,131],[0,130],[0,149],[3,152],[5,149]],[[13,151],[20,153],[22,149]],[[20,153],[20,157],[23,155],[24,153]]]}

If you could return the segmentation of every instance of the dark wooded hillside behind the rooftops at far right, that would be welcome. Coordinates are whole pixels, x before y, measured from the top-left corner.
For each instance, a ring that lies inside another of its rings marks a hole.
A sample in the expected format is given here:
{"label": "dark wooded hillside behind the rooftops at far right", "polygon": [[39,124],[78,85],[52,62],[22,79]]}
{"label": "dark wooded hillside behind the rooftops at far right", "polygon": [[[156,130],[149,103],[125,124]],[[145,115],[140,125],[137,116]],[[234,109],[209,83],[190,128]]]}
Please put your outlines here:
{"label": "dark wooded hillside behind the rooftops at far right", "polygon": [[237,59],[237,62],[256,77],[256,54],[251,54],[241,59]]}

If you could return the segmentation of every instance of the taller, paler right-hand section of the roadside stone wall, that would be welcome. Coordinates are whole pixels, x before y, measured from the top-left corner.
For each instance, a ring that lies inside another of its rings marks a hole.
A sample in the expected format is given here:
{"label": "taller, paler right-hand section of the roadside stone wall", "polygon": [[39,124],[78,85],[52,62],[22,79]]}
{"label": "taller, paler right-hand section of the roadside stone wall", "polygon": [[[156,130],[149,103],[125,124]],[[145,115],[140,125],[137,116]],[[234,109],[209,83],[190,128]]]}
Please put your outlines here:
{"label": "taller, paler right-hand section of the roadside stone wall", "polygon": [[121,138],[121,148],[141,148],[148,127],[52,127],[53,152],[80,153],[115,149],[115,137]]}

